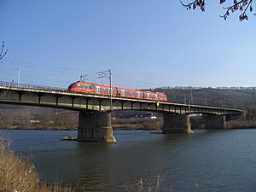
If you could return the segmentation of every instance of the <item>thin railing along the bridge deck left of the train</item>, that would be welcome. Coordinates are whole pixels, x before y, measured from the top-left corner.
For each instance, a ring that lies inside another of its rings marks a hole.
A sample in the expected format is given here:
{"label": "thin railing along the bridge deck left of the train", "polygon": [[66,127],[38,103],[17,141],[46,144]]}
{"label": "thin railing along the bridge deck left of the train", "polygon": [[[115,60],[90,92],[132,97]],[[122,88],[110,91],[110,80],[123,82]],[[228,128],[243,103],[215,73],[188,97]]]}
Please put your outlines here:
{"label": "thin railing along the bridge deck left of the train", "polygon": [[16,88],[26,88],[26,89],[32,89],[32,90],[55,90],[55,91],[67,91],[67,89],[60,88],[60,87],[50,87],[50,86],[43,86],[38,84],[18,84],[15,82],[5,82],[0,81],[0,86],[5,87],[16,87]]}

